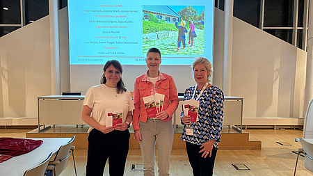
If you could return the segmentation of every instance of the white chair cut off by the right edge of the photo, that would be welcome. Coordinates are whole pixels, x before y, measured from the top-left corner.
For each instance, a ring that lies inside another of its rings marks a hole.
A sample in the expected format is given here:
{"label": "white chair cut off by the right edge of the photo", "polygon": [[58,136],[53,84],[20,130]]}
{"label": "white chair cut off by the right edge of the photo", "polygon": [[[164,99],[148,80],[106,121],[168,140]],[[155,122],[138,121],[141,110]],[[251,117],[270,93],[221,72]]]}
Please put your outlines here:
{"label": "white chair cut off by the right edge of the photo", "polygon": [[294,175],[296,175],[296,169],[298,164],[299,154],[305,154],[305,168],[313,172],[313,144],[305,141],[303,138],[299,138],[302,148],[298,148],[298,156],[296,160],[296,167],[294,168]]}

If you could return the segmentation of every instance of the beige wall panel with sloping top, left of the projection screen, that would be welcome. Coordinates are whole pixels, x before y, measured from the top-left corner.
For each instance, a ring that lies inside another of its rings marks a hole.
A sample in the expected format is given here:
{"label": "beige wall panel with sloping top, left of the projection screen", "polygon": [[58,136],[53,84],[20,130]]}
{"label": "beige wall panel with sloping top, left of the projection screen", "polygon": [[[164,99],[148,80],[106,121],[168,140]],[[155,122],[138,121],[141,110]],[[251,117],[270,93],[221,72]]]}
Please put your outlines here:
{"label": "beige wall panel with sloping top, left of the projection screen", "polygon": [[36,117],[36,97],[51,94],[47,17],[0,38],[0,70],[0,117]]}

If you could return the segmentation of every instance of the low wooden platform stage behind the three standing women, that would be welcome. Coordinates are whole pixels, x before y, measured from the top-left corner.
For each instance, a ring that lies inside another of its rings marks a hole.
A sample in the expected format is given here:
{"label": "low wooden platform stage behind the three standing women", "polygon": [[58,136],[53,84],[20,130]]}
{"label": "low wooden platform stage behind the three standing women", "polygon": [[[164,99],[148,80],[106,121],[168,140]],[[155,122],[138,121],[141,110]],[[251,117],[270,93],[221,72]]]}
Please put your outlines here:
{"label": "low wooden platform stage behind the three standing women", "polygon": [[[33,129],[26,133],[26,138],[70,138],[76,136],[73,145],[76,149],[86,150],[88,148],[88,125],[83,125],[82,127],[77,127],[76,125],[56,125],[44,131],[39,131],[39,129]],[[131,150],[140,150],[141,147],[138,142],[134,139],[134,130],[129,129],[131,132],[131,138],[129,142],[129,149]],[[172,150],[183,150],[185,149],[184,141],[179,140],[182,125],[176,125],[174,133],[174,140],[172,143]],[[231,149],[255,149],[260,150],[262,147],[262,142],[258,141],[252,136],[249,136],[249,133],[246,131],[242,132],[235,127],[229,127],[223,125],[221,132],[221,141],[219,144],[221,150],[231,150]]]}

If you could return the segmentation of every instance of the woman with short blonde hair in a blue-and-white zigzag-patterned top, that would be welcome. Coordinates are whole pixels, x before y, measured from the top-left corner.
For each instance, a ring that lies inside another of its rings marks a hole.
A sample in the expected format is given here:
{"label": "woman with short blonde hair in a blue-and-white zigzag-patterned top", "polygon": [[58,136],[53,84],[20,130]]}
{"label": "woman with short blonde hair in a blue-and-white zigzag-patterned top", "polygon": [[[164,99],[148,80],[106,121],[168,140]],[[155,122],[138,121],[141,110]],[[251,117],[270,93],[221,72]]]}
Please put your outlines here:
{"label": "woman with short blonde hair in a blue-and-white zigzag-patterned top", "polygon": [[186,88],[184,101],[198,101],[198,120],[192,122],[191,116],[182,109],[180,116],[184,129],[180,139],[186,142],[193,175],[213,175],[223,123],[224,94],[220,88],[209,83],[212,65],[207,58],[195,58],[192,72],[196,85]]}

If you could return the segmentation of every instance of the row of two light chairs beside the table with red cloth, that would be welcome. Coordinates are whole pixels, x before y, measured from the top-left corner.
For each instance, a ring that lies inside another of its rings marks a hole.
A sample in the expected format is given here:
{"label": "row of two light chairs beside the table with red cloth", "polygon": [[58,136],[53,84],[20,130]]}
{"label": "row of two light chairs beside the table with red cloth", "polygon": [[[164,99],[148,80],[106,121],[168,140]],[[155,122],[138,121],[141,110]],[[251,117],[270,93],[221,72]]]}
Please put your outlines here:
{"label": "row of two light chairs beside the table with red cloth", "polygon": [[24,176],[60,175],[63,172],[63,170],[65,170],[68,163],[68,158],[70,157],[71,153],[74,161],[75,175],[77,175],[76,164],[74,160],[75,146],[72,146],[74,138],[75,136],[73,136],[68,143],[62,145],[58,149],[58,152],[56,152],[56,156],[54,157],[53,160],[50,160],[51,157],[53,156],[53,153],[51,152],[47,159],[45,159],[45,161],[42,161],[42,163],[40,163],[38,166],[26,170]]}

